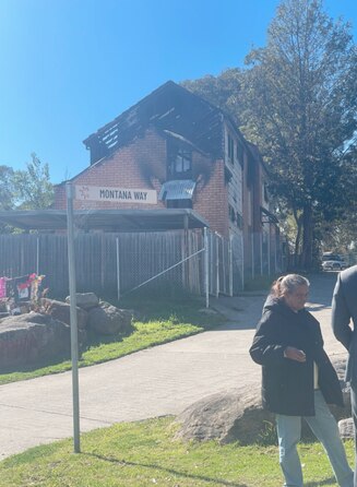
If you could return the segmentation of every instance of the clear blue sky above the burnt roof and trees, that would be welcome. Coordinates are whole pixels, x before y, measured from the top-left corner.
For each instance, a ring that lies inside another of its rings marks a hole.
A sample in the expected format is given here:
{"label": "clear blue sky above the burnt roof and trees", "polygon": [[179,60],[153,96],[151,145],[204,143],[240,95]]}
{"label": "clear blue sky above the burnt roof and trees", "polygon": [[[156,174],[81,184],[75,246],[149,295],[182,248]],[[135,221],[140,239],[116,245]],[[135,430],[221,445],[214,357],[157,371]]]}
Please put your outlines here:
{"label": "clear blue sky above the burnt roof and trees", "polygon": [[[242,66],[278,0],[0,0],[0,164],[35,152],[52,182],[90,164],[82,141],[167,80]],[[357,2],[325,0],[354,25]]]}

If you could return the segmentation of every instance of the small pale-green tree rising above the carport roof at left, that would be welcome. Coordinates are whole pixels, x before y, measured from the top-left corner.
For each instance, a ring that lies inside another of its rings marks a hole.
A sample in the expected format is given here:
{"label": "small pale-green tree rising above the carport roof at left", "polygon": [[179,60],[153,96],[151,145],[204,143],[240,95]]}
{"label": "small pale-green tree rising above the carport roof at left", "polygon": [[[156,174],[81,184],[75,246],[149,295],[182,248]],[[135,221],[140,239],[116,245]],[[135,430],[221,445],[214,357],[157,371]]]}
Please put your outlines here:
{"label": "small pale-green tree rising above the carport roof at left", "polygon": [[35,153],[26,170],[13,174],[13,186],[19,210],[47,209],[53,201],[53,186],[49,180],[48,164],[43,164]]}

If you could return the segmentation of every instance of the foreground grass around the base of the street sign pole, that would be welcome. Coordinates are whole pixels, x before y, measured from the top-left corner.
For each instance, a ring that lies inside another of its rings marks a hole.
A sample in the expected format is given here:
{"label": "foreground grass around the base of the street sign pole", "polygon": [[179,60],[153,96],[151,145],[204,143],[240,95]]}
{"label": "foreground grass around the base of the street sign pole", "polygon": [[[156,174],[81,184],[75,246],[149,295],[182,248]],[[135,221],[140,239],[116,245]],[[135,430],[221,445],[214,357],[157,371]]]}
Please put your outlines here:
{"label": "foreground grass around the base of the street sign pole", "polygon": [[[172,418],[117,424],[36,447],[0,463],[1,487],[277,487],[276,447],[175,440]],[[345,443],[353,464],[353,442]],[[320,443],[299,447],[306,487],[336,486]]]}

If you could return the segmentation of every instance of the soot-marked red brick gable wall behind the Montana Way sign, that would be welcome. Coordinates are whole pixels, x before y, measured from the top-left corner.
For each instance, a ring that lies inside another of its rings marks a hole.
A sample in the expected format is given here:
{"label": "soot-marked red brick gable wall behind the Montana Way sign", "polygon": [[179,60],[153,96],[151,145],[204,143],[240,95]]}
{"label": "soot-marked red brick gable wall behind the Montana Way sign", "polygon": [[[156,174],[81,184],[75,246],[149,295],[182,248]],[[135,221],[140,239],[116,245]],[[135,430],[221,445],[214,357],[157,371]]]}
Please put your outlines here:
{"label": "soot-marked red brick gable wall behind the Montana Way sign", "polygon": [[[166,140],[155,130],[148,130],[143,138],[119,149],[110,157],[90,166],[72,179],[74,185],[155,189],[157,194],[166,175]],[[225,185],[224,162],[212,161],[199,152],[192,154],[193,179],[198,181],[193,210],[202,215],[214,231],[228,236],[228,197]],[[56,188],[55,207],[66,209],[66,186]],[[156,205],[121,203],[109,201],[74,201],[74,209],[164,209]]]}

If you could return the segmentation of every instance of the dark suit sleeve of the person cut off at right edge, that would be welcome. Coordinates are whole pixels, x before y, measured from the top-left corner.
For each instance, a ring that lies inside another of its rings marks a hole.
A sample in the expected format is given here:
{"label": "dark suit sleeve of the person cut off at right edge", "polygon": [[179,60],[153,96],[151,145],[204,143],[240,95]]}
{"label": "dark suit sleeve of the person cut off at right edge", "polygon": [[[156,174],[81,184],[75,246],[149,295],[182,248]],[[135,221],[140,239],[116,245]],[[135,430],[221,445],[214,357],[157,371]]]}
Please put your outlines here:
{"label": "dark suit sleeve of the person cut off at right edge", "polygon": [[332,298],[331,323],[335,337],[347,348],[347,351],[353,335],[349,321],[350,312],[344,296],[343,283],[338,275]]}

